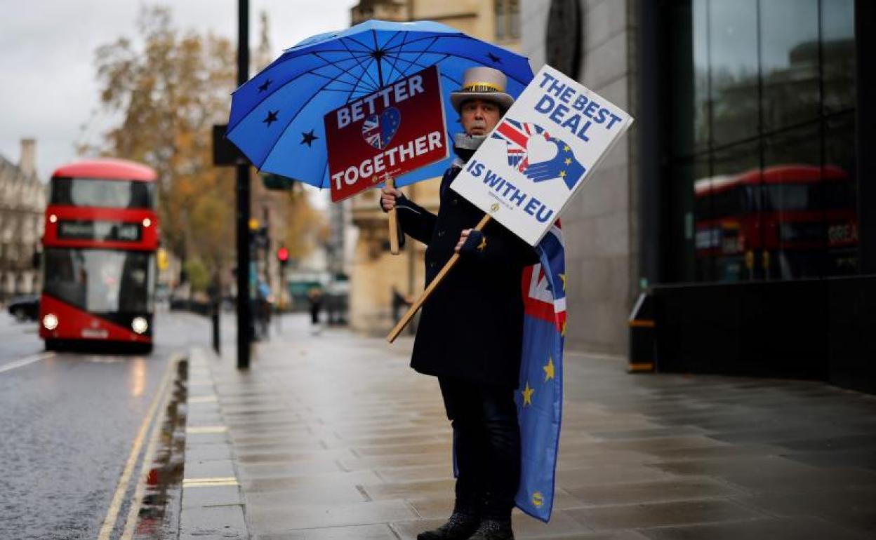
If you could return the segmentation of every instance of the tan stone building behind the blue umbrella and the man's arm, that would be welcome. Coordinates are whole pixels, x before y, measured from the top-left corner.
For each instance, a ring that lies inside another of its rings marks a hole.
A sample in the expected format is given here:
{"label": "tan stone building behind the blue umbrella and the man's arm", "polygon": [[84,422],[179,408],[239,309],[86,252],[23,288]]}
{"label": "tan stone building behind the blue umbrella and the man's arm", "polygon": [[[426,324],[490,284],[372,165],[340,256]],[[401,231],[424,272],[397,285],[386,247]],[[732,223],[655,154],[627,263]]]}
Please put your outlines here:
{"label": "tan stone building behind the blue umbrella and the man's arm", "polygon": [[[362,0],[350,10],[352,25],[376,18],[390,21],[432,20],[511,50],[519,48],[517,0]],[[438,209],[440,179],[407,186],[404,193],[432,212]],[[350,325],[359,332],[386,333],[394,324],[392,291],[415,297],[423,289],[425,246],[408,239],[399,255],[389,252],[388,225],[378,206],[378,190],[350,201],[358,235],[350,263]]]}

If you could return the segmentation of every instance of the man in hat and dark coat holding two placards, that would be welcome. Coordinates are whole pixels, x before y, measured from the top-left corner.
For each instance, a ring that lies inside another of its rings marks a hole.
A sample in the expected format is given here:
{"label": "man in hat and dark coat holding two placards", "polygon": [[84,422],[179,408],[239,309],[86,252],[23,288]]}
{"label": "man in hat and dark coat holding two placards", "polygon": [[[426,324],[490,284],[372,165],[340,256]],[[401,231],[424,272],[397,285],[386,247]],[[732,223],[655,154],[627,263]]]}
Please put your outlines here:
{"label": "man in hat and dark coat holding two placards", "polygon": [[427,244],[426,282],[454,254],[461,258],[423,305],[411,367],[435,375],[453,426],[456,503],[448,522],[418,540],[507,540],[520,474],[520,434],[514,391],[523,340],[521,273],[539,262],[533,248],[484,216],[450,184],[498,124],[513,98],[505,74],[471,67],[450,95],[464,133],[444,172],[438,215],[384,188],[384,211],[397,208],[406,235]]}

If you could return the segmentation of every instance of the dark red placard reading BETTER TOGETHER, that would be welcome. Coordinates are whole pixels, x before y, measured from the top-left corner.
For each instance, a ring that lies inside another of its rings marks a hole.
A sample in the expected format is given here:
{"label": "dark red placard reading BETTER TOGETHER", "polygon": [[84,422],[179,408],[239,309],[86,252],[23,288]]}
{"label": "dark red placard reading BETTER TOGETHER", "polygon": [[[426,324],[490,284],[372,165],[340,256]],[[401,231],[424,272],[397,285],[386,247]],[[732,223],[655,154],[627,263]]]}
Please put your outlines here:
{"label": "dark red placard reading BETTER TOGETHER", "polygon": [[329,112],[324,122],[333,202],[448,157],[434,66]]}

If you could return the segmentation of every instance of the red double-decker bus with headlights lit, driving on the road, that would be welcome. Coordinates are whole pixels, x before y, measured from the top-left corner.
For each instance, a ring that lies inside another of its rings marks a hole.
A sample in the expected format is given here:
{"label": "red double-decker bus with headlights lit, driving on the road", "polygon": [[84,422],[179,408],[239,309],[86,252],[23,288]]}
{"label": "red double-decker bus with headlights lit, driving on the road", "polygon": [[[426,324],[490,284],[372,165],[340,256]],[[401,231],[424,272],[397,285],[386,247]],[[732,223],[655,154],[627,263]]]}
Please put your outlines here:
{"label": "red double-decker bus with headlights lit, driving on the road", "polygon": [[39,300],[47,349],[105,342],[152,350],[155,179],[151,168],[122,159],[78,161],[53,173]]}

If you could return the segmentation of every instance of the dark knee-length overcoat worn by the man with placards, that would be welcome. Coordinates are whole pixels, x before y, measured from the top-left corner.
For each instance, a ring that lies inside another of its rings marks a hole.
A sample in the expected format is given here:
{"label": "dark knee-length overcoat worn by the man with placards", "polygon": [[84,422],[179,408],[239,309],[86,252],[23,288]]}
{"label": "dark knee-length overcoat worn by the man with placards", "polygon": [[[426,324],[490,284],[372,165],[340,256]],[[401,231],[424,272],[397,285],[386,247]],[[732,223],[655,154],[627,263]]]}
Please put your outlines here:
{"label": "dark knee-length overcoat worn by the man with placards", "polygon": [[[461,169],[444,173],[438,215],[399,197],[402,231],[427,244],[426,284],[454,254],[465,228],[484,212],[449,189]],[[516,389],[523,340],[523,268],[538,263],[535,250],[496,221],[483,230],[483,249],[463,253],[423,305],[411,367]]]}

